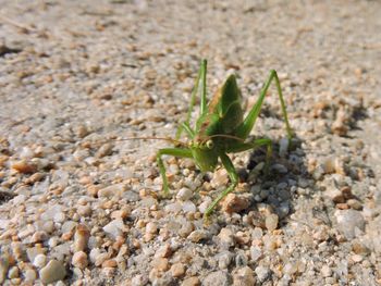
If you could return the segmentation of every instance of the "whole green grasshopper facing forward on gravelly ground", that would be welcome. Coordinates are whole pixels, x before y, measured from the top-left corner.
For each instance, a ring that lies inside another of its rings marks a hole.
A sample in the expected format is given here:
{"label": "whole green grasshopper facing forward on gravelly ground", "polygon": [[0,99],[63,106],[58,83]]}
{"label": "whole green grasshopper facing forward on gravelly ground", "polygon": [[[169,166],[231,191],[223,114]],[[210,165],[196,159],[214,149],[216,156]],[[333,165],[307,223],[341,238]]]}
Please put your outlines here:
{"label": "whole green grasshopper facing forward on gravelly ground", "polygon": [[[164,195],[169,195],[168,178],[165,175],[165,166],[161,158],[162,156],[194,159],[196,165],[201,172],[213,171],[219,162],[219,159],[221,160],[222,165],[228,171],[231,184],[208,207],[205,212],[205,217],[208,217],[220,200],[228,196],[229,192],[234,190],[238,184],[237,172],[235,171],[228,153],[243,152],[263,146],[267,148],[266,169],[269,166],[269,159],[271,158],[272,153],[271,140],[268,138],[259,138],[255,140],[246,139],[253,129],[254,124],[256,123],[263,103],[263,99],[272,80],[274,80],[276,85],[288,141],[292,139],[293,133],[287,119],[281,84],[274,70],[270,72],[270,76],[260,91],[258,101],[255,103],[245,119],[241,102],[242,96],[237,87],[235,75],[228,77],[223,86],[210,100],[209,104],[207,104],[206,76],[207,61],[202,60],[194,89],[192,91],[190,105],[186,120],[177,129],[176,140],[173,140],[179,145],[179,138],[181,137],[182,133],[185,132],[190,139],[189,142],[186,145],[180,142],[180,146],[174,148],[160,149],[157,153],[157,162],[162,177]],[[189,121],[195,105],[196,96],[198,94],[199,83],[201,83],[200,113],[196,121],[196,126],[190,127]]]}

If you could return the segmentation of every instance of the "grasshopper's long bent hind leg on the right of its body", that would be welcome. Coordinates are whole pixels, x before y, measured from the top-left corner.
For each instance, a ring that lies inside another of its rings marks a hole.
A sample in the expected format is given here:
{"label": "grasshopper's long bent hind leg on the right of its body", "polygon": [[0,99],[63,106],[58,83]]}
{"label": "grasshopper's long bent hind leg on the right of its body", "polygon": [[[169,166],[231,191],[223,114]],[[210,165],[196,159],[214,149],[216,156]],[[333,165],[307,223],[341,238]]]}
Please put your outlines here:
{"label": "grasshopper's long bent hind leg on the right of its body", "polygon": [[248,115],[246,116],[244,122],[238,126],[238,128],[236,130],[236,135],[238,137],[247,138],[247,136],[249,135],[250,130],[253,129],[253,126],[256,123],[256,120],[257,120],[257,117],[259,115],[260,109],[261,109],[262,103],[263,103],[263,99],[266,97],[266,94],[267,94],[267,91],[268,91],[268,89],[270,87],[270,84],[271,84],[272,79],[275,80],[275,86],[276,86],[279,99],[281,101],[282,113],[283,113],[284,122],[285,122],[285,125],[286,125],[287,137],[288,137],[288,140],[292,139],[293,132],[292,132],[292,129],[290,127],[290,123],[288,123],[288,116],[287,116],[287,111],[286,111],[284,99],[283,99],[281,83],[279,82],[278,74],[276,74],[276,72],[274,70],[271,70],[269,78],[267,79],[262,90],[260,91],[258,101],[253,107],[253,109],[250,110],[250,112],[248,113]]}

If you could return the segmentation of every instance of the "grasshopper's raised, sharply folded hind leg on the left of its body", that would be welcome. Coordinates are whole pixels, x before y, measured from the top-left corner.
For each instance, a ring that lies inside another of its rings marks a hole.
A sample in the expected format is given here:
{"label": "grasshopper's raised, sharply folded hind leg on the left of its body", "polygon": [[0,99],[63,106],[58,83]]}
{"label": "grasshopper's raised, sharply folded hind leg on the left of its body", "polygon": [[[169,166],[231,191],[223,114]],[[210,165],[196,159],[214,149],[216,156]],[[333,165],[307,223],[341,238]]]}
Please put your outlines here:
{"label": "grasshopper's raised, sharply folded hind leg on the left of its body", "polygon": [[188,113],[186,114],[185,122],[182,125],[180,125],[177,128],[176,136],[175,136],[176,139],[179,139],[181,134],[183,133],[184,124],[186,126],[188,126],[188,128],[190,128],[189,121],[190,121],[193,109],[195,107],[196,96],[197,96],[200,79],[201,79],[201,85],[202,85],[201,101],[200,101],[200,114],[204,114],[204,112],[206,111],[206,108],[207,108],[207,60],[201,61],[200,69],[198,70],[198,74],[196,77],[195,86],[192,90]]}

